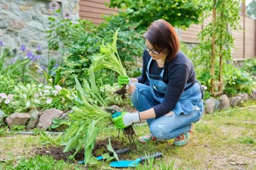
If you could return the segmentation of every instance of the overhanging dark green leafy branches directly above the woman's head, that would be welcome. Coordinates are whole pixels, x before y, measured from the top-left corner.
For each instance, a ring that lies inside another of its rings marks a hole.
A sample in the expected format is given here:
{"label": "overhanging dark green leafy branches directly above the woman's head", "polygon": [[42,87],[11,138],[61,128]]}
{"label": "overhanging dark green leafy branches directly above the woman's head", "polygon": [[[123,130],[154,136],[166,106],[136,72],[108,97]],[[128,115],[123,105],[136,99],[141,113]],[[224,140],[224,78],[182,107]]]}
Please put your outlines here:
{"label": "overhanging dark green leafy branches directly above the woman's head", "polygon": [[110,8],[121,8],[119,16],[122,18],[120,24],[129,23],[138,24],[138,29],[146,29],[154,20],[164,19],[173,26],[188,27],[190,24],[197,24],[205,10],[206,1],[130,1],[130,0],[111,0]]}

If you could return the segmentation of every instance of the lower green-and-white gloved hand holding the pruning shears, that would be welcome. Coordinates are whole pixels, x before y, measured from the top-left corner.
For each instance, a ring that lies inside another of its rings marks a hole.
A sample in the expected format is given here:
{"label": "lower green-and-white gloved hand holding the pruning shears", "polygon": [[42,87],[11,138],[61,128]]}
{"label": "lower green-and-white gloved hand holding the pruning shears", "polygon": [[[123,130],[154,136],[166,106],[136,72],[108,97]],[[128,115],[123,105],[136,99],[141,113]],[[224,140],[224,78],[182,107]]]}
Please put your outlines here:
{"label": "lower green-and-white gloved hand holding the pruning shears", "polygon": [[132,123],[140,122],[139,113],[121,112],[121,115],[117,118],[112,118],[115,127],[118,129],[124,129]]}

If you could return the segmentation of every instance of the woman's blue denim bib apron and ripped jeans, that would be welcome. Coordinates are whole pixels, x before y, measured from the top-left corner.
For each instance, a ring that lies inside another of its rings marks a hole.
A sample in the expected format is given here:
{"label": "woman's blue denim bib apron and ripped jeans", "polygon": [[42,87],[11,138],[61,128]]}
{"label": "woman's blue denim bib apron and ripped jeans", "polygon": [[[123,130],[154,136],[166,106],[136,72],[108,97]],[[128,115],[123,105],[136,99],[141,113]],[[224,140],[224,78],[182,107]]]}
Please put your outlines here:
{"label": "woman's blue denim bib apron and ripped jeans", "polygon": [[[131,95],[133,106],[139,111],[151,109],[153,106],[163,102],[167,91],[167,84],[163,82],[164,64],[160,76],[150,75],[149,69],[153,59],[150,58],[147,66],[147,78],[149,85],[134,83],[136,90]],[[196,122],[202,116],[203,101],[200,84],[197,81],[185,85],[184,92],[172,109],[175,113],[169,116],[147,119],[150,132],[154,137],[161,140],[169,140],[188,132],[191,123]]]}

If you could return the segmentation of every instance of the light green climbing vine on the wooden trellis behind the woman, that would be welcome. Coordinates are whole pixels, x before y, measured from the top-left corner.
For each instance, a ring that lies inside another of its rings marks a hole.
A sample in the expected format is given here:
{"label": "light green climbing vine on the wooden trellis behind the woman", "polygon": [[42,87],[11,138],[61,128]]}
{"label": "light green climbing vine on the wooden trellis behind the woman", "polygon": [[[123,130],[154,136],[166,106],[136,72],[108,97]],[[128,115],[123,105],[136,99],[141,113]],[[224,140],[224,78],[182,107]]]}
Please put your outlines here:
{"label": "light green climbing vine on the wooden trellis behind the woman", "polygon": [[[213,3],[213,1],[211,1]],[[209,7],[212,7],[213,4],[211,4]],[[215,32],[215,77],[214,79],[218,79],[220,75],[220,66],[218,66],[220,63],[220,56],[223,56],[223,63],[226,63],[227,61],[232,60],[231,57],[231,48],[234,47],[234,38],[228,32],[227,29],[227,23],[229,26],[229,29],[236,30],[237,27],[239,27],[239,11],[240,11],[240,1],[218,1],[215,4],[215,7],[217,9],[217,17],[216,17],[216,23],[213,29],[213,23],[209,23],[202,32],[199,33],[198,39],[200,40],[200,44],[197,45],[197,47],[193,48],[191,52],[188,52],[190,55],[189,57],[192,58],[193,63],[196,67],[196,73],[197,73],[197,79],[202,83],[202,85],[205,85],[209,89],[211,89],[211,52],[212,52],[212,36],[213,32]],[[227,10],[228,7],[228,10]],[[209,13],[205,14],[206,16],[209,15]],[[227,64],[224,64],[224,67],[227,66]],[[237,73],[237,72],[236,72]],[[242,74],[242,73],[237,73]],[[233,90],[233,86],[228,86],[229,84],[233,84],[231,81],[231,75],[233,75],[233,72],[228,72],[227,69],[225,69],[223,76],[224,78],[224,84],[226,91],[230,93],[231,90],[234,92],[239,89],[242,91],[245,90],[244,87],[234,87],[235,90]],[[236,81],[236,80],[234,80]],[[234,82],[233,81],[233,82]],[[243,81],[243,80],[241,80]],[[236,84],[240,84],[240,82],[236,82]],[[249,83],[250,84],[250,83]],[[232,92],[232,93],[233,93]]]}

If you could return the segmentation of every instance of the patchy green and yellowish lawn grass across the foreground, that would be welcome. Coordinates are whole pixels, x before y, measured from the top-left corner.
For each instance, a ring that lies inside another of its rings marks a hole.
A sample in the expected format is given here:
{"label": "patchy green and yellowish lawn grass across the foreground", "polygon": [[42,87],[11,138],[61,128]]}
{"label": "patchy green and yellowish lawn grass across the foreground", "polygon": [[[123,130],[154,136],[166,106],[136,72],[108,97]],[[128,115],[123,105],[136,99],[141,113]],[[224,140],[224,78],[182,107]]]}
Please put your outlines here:
{"label": "patchy green and yellowish lawn grass across the foreground", "polygon": [[[256,105],[256,101],[243,103],[244,106]],[[227,110],[228,111],[228,110]],[[130,153],[131,159],[145,154],[161,152],[162,159],[144,163],[136,169],[256,169],[256,107],[231,112],[215,112],[205,115],[195,123],[196,131],[186,146],[173,146],[173,140],[164,143],[138,144],[138,149]],[[138,136],[149,133],[147,125],[136,126]],[[112,135],[117,135],[111,129]],[[107,131],[100,133],[105,138]],[[33,147],[40,147],[39,135],[9,135],[0,138],[0,160],[2,165],[10,166],[22,157],[32,157]],[[45,139],[47,140],[47,138]],[[47,144],[54,144],[48,140]],[[98,153],[102,153],[99,150]],[[41,158],[38,158],[41,159]],[[43,158],[42,158],[43,160]],[[32,161],[32,160],[31,160]],[[62,166],[62,163],[53,164]],[[26,163],[25,163],[26,164]],[[24,164],[24,165],[25,165]],[[84,169],[74,163],[66,163],[69,169]],[[0,166],[1,168],[1,166]],[[111,169],[108,162],[97,162],[89,169]],[[128,168],[134,169],[134,168]]]}

